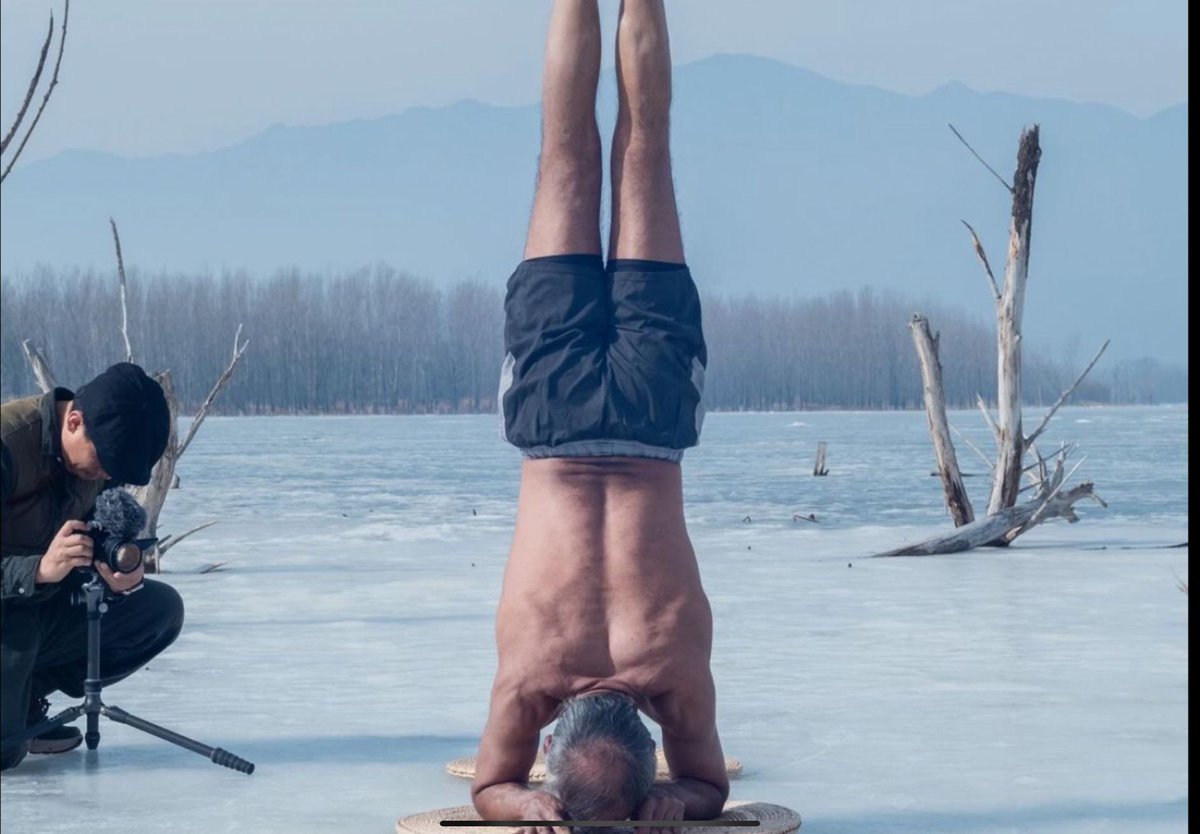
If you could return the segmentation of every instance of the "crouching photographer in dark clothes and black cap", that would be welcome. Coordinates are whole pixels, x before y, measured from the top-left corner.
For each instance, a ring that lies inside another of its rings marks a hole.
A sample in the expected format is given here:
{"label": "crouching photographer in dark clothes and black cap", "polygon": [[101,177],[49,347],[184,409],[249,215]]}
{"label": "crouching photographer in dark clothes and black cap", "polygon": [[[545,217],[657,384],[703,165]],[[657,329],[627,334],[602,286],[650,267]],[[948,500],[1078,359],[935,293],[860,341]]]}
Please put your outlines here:
{"label": "crouching photographer in dark clothes and black cap", "polygon": [[[76,569],[98,572],[112,598],[100,647],[106,685],[179,636],[184,602],[175,589],[144,580],[137,554],[97,544],[103,530],[85,521],[98,517],[106,487],[150,481],[169,430],[162,388],[131,362],[78,392],[58,388],[0,406],[0,737],[38,724],[55,691],[83,697],[88,624],[72,599]],[[4,750],[0,769],[80,742],[78,728],[56,727]]]}

